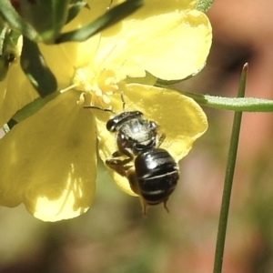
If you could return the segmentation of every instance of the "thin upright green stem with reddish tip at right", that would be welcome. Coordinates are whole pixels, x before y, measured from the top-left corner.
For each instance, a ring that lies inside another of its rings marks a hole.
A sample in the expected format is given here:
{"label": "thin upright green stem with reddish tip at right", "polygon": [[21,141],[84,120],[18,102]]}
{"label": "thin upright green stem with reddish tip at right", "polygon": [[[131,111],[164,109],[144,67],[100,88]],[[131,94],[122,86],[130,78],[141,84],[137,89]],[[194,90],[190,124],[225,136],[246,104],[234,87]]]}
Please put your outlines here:
{"label": "thin upright green stem with reddish tip at right", "polygon": [[[246,64],[243,67],[243,71],[242,71],[240,83],[239,83],[239,88],[238,88],[238,97],[245,96],[247,74],[248,74],[248,64]],[[219,223],[218,223],[217,246],[216,246],[216,252],[215,252],[214,270],[213,270],[214,273],[222,272],[225,240],[226,240],[226,233],[227,233],[227,217],[228,217],[234,170],[236,165],[241,119],[242,119],[242,112],[236,112],[234,115],[234,120],[233,120],[231,140],[230,140],[230,146],[229,146],[229,152],[228,152],[228,158],[227,158],[225,184],[223,189],[222,204],[221,204],[220,217],[219,217]]]}

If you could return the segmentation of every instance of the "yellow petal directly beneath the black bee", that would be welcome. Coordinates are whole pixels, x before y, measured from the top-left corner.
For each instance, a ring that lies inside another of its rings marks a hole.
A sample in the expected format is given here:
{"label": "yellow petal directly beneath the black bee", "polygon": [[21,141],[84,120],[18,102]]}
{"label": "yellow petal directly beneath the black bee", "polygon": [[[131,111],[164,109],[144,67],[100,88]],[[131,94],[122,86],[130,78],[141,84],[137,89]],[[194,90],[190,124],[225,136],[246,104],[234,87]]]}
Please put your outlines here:
{"label": "yellow petal directly beneath the black bee", "polygon": [[[187,156],[194,141],[207,130],[207,116],[202,108],[190,97],[182,96],[176,91],[136,84],[127,85],[126,88],[125,110],[139,110],[145,118],[155,121],[159,136],[166,134],[160,147],[167,149],[177,162]],[[116,113],[122,112],[120,96],[115,95],[113,105]],[[105,162],[116,151],[116,137],[106,130],[106,121],[110,115],[96,109],[92,111],[98,118],[99,156]],[[118,187],[127,194],[136,196],[125,177],[120,177],[112,170],[109,172]]]}

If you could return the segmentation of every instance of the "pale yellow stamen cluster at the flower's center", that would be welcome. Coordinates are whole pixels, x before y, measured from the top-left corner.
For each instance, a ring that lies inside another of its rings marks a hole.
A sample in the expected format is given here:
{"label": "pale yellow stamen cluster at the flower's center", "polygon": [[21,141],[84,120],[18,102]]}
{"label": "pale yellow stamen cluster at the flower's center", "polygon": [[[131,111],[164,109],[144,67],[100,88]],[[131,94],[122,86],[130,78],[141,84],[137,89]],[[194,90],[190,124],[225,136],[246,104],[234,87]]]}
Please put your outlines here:
{"label": "pale yellow stamen cluster at the flower's center", "polygon": [[121,79],[112,69],[94,70],[90,66],[76,69],[73,79],[73,86],[78,91],[82,91],[78,103],[85,101],[86,95],[91,97],[91,106],[111,107],[111,99],[116,91]]}

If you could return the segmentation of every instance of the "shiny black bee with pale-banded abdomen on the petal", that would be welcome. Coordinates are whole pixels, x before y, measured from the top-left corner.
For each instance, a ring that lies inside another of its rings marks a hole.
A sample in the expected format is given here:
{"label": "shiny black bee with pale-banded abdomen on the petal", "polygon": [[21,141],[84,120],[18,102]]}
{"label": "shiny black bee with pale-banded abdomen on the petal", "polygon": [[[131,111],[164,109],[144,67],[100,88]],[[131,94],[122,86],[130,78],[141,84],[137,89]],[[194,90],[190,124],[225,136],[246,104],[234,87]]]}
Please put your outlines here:
{"label": "shiny black bee with pale-banded abdomen on the petal", "polygon": [[128,179],[131,189],[140,197],[144,215],[147,206],[163,203],[167,209],[167,199],[177,187],[179,168],[167,150],[160,148],[166,136],[158,136],[157,124],[147,120],[142,112],[125,111],[123,93],[121,100],[123,112],[118,115],[110,109],[84,106],[116,115],[106,123],[106,129],[116,134],[117,147],[112,157],[106,159],[106,166]]}

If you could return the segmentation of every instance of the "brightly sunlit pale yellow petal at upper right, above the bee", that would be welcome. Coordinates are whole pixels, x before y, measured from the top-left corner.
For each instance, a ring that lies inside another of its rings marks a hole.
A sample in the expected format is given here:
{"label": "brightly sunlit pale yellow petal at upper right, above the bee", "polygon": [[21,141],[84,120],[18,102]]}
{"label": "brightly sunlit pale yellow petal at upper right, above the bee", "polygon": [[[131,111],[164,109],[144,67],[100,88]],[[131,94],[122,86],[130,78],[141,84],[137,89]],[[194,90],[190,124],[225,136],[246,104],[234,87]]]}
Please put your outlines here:
{"label": "brightly sunlit pale yellow petal at upper right, above the bee", "polygon": [[106,33],[96,63],[120,66],[120,73],[128,76],[148,71],[166,80],[197,73],[206,63],[212,39],[207,16],[196,10],[125,20],[118,32]]}

